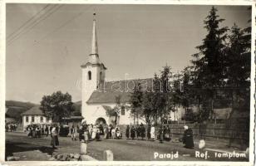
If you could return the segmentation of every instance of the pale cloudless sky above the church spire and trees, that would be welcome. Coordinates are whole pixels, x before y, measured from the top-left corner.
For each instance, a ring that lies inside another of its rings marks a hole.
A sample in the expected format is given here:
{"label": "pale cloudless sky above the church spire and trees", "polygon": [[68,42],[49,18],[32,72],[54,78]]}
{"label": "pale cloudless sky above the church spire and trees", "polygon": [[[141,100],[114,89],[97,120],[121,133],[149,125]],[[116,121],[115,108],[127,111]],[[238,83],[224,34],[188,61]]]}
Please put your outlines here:
{"label": "pale cloudless sky above the church spire and trees", "polygon": [[[215,7],[225,19],[221,27],[234,22],[249,26],[248,7]],[[43,95],[57,90],[81,100],[81,64],[91,53],[93,12],[106,81],[150,78],[166,64],[173,72],[182,71],[205,37],[210,8],[7,4],[6,100],[38,104]]]}

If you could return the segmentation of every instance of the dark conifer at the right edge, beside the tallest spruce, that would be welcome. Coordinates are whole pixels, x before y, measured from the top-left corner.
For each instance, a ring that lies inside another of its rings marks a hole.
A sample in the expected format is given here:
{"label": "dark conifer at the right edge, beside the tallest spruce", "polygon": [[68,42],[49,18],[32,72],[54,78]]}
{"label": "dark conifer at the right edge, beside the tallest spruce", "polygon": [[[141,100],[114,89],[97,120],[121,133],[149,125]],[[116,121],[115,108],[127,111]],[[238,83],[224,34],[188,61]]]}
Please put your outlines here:
{"label": "dark conifer at the right edge, beside the tallest spruce", "polygon": [[[231,89],[231,100],[233,108],[241,106],[239,100],[249,100],[249,42],[250,39],[245,37],[245,31],[241,30],[239,27],[237,27],[236,24],[234,24],[234,26],[231,28],[231,34],[229,35],[229,47],[227,49],[226,56],[227,86]],[[247,107],[249,107],[249,105],[247,105]]]}

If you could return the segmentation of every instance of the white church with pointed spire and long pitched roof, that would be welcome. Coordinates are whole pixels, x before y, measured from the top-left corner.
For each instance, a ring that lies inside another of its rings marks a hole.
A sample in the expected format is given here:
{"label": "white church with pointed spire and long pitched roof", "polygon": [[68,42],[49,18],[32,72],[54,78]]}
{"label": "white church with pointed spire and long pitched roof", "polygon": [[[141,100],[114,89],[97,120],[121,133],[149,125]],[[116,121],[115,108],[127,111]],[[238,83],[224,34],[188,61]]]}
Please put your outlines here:
{"label": "white church with pointed spire and long pitched roof", "polygon": [[[116,97],[119,96],[123,106],[117,118],[117,125],[145,124],[143,120],[135,120],[135,117],[130,115],[130,110],[124,105],[129,105],[130,92],[134,90],[135,85],[140,83],[143,90],[150,90],[153,87],[153,79],[105,81],[107,68],[100,61],[98,54],[95,18],[92,26],[91,54],[87,58],[87,62],[81,65],[81,115],[86,122],[88,124],[115,124],[115,117],[108,116],[106,111],[116,106]],[[177,119],[178,115],[170,117]]]}

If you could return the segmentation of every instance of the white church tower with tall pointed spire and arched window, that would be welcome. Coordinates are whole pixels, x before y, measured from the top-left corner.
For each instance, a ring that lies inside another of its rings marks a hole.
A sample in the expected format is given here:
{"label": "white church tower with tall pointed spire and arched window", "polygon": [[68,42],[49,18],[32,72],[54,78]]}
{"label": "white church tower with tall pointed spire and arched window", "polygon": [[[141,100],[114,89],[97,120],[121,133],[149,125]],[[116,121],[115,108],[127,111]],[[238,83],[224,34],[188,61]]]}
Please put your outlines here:
{"label": "white church tower with tall pointed spire and arched window", "polygon": [[[100,61],[98,54],[98,43],[96,36],[96,13],[93,14],[91,54],[88,56],[88,62],[81,65],[82,85],[81,85],[81,115],[88,120],[88,107],[86,101],[89,100],[92,92],[97,90],[101,83],[105,81],[106,67]],[[90,121],[90,120],[89,120]]]}

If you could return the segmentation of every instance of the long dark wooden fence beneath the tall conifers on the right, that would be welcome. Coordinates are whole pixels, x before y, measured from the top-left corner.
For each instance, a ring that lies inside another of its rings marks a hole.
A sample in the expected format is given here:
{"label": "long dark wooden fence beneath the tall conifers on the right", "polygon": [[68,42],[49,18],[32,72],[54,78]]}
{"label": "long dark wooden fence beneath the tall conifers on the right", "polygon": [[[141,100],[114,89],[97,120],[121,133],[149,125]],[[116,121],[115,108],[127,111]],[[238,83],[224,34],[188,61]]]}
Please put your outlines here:
{"label": "long dark wooden fence beneath the tall conifers on the right", "polygon": [[[181,138],[184,134],[184,125],[188,125],[194,134],[194,139],[221,140],[244,147],[249,145],[249,120],[227,120],[222,124],[170,124],[172,138]],[[145,125],[145,128],[147,126]],[[123,136],[126,134],[126,126],[121,125]],[[159,127],[155,127],[158,134]]]}

